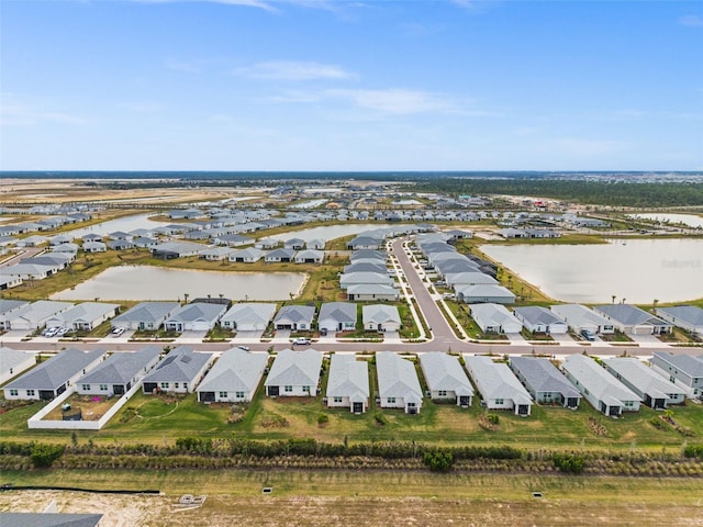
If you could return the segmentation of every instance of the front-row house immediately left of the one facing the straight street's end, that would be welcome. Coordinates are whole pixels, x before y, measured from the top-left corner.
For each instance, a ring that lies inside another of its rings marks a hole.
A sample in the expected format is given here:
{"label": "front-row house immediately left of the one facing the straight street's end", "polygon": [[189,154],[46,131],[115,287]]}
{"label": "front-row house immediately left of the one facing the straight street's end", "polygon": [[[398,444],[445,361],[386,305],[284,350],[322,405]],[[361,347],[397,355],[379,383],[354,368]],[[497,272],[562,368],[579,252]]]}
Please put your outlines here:
{"label": "front-row house immediately left of the one facing the straight street's end", "polygon": [[376,354],[376,373],[381,408],[420,413],[422,388],[413,362],[392,351],[379,351]]}

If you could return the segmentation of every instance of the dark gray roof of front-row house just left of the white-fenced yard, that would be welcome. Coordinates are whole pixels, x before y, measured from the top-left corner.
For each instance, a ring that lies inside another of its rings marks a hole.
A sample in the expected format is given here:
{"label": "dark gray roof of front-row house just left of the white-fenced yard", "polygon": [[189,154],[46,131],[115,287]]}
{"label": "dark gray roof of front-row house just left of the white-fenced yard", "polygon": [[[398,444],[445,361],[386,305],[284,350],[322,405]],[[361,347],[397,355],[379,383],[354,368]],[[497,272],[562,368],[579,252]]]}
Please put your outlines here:
{"label": "dark gray roof of front-row house just left of the white-fenced yard", "polygon": [[103,356],[103,349],[81,351],[68,348],[15,379],[4,389],[56,390],[88,365]]}

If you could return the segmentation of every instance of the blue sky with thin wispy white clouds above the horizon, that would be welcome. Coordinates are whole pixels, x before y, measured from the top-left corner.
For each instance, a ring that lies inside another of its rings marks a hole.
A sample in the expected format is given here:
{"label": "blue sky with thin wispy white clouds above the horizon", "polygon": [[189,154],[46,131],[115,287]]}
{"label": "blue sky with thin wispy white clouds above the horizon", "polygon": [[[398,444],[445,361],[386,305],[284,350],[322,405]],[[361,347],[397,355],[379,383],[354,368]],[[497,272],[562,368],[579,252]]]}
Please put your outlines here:
{"label": "blue sky with thin wispy white clouds above the horizon", "polygon": [[701,2],[0,10],[0,169],[703,169]]}

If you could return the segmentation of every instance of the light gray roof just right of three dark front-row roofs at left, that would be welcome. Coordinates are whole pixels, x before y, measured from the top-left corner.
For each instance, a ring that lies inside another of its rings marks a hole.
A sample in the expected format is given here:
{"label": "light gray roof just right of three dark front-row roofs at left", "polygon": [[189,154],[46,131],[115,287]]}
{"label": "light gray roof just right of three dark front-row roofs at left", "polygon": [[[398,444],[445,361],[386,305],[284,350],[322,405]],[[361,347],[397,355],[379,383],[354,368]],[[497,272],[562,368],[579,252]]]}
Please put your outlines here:
{"label": "light gray roof just right of three dark front-row roofs at left", "polygon": [[254,393],[268,365],[268,354],[232,348],[222,354],[200,383],[199,392]]}

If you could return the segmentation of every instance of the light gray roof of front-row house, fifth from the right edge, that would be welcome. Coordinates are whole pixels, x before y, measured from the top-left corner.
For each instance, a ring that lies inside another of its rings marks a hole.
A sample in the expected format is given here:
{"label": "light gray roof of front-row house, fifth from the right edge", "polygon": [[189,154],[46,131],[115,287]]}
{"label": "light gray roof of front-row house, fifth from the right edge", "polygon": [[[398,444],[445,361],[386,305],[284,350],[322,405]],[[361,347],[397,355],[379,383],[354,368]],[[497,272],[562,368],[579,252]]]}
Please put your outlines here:
{"label": "light gray roof of front-row house, fifth from the right edge", "polygon": [[471,379],[483,400],[510,399],[514,403],[526,404],[532,396],[504,362],[493,362],[490,357],[464,355]]}

